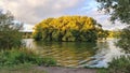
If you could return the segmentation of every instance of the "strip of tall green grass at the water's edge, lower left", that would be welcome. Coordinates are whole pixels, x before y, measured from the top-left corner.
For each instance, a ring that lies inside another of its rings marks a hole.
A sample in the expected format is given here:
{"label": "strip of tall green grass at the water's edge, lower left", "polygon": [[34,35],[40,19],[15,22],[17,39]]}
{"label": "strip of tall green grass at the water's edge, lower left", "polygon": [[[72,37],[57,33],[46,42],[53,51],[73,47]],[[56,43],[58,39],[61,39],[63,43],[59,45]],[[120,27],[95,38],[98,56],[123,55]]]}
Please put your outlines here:
{"label": "strip of tall green grass at the water's edge, lower left", "polygon": [[55,65],[56,61],[50,57],[41,57],[30,49],[10,49],[0,53],[0,67],[17,65],[17,64],[38,64],[38,65]]}

